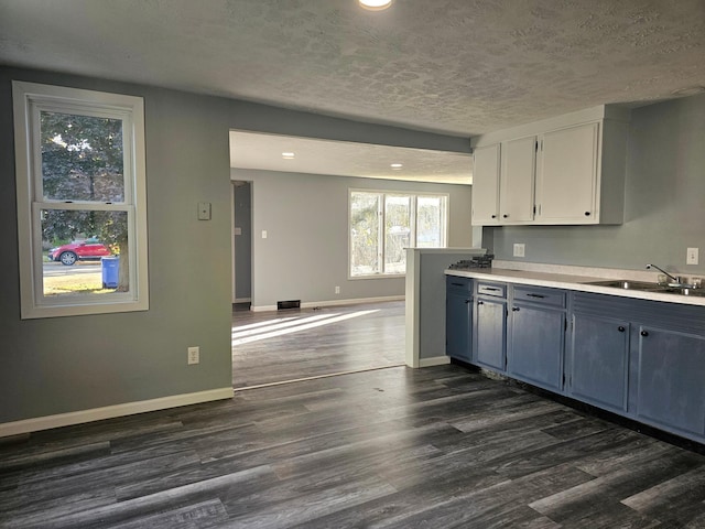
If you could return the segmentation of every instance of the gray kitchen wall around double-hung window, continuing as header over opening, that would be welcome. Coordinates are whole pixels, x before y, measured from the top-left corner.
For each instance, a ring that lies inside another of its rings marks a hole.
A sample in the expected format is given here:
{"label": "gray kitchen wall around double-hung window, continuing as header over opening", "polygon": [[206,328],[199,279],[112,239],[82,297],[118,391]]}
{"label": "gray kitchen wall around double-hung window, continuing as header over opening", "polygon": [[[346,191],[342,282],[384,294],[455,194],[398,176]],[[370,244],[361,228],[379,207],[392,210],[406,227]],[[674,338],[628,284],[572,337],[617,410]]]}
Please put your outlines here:
{"label": "gray kitchen wall around double-hung window, continuing as header over opening", "polygon": [[[20,320],[12,79],[144,97],[149,311]],[[6,256],[0,274],[0,422],[231,385],[229,129],[458,152],[469,149],[463,138],[153,87],[0,68],[0,233]],[[198,202],[213,204],[213,220],[196,219]],[[308,199],[307,204],[314,203]],[[284,242],[273,253],[285,258],[288,248]],[[200,346],[198,366],[186,365],[191,345]]]}

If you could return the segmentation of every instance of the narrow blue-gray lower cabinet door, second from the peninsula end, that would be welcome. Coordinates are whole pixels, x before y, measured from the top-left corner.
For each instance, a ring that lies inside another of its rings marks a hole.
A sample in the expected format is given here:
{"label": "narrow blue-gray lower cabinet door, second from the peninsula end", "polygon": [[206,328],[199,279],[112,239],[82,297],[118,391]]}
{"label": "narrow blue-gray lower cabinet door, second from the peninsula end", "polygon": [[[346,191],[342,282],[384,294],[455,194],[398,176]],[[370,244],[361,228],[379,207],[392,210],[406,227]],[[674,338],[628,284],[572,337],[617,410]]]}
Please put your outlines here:
{"label": "narrow blue-gray lower cabinet door, second from the peninsula end", "polygon": [[475,302],[475,352],[477,364],[503,371],[507,352],[507,302],[478,299]]}

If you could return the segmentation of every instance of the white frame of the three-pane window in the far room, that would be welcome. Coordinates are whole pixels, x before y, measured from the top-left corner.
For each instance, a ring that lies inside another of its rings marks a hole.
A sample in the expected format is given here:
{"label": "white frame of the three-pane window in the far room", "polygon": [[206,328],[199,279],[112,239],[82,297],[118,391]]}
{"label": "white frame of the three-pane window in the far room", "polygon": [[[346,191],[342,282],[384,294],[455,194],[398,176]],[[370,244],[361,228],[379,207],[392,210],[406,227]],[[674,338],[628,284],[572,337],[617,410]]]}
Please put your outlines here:
{"label": "white frame of the three-pane window in the far room", "polygon": [[[375,273],[367,274],[352,274],[352,238],[351,238],[351,214],[352,214],[352,194],[354,193],[368,193],[378,196],[378,207],[381,205],[381,212],[378,210],[379,224],[378,224],[378,240],[379,247],[378,251],[378,260],[380,263],[380,271]],[[419,197],[440,197],[443,198],[444,212],[443,212],[443,230],[442,230],[442,241],[443,246],[438,246],[435,248],[447,248],[448,246],[448,231],[449,231],[449,209],[451,209],[451,195],[448,193],[433,193],[433,192],[416,192],[416,191],[395,191],[395,190],[367,190],[367,188],[348,188],[348,279],[349,280],[358,280],[358,279],[392,279],[392,278],[404,278],[405,273],[384,273],[384,259],[386,259],[386,246],[387,246],[387,233],[386,233],[386,220],[387,220],[387,196],[409,196],[411,197],[410,205],[410,248],[416,247],[416,238],[419,235]],[[432,248],[432,247],[424,247]]]}

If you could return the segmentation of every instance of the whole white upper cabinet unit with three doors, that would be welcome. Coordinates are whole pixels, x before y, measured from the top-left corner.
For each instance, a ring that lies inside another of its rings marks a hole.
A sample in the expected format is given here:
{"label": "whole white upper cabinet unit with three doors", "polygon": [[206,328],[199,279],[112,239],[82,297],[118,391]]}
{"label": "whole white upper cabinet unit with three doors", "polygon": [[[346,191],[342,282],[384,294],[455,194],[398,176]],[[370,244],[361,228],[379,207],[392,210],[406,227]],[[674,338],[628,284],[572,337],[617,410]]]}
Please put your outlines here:
{"label": "whole white upper cabinet unit with three doors", "polygon": [[479,137],[473,224],[621,224],[628,117],[600,106]]}

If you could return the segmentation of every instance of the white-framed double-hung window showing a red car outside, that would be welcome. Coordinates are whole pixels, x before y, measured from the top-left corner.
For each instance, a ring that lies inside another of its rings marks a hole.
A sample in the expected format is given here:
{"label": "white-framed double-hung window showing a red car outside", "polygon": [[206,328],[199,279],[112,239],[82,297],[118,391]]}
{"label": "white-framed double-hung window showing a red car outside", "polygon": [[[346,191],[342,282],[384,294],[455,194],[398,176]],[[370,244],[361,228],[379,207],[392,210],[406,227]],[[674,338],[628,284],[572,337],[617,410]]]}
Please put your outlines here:
{"label": "white-framed double-hung window showing a red car outside", "polygon": [[142,98],[12,83],[22,317],[147,310]]}

